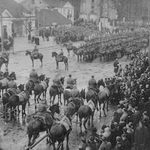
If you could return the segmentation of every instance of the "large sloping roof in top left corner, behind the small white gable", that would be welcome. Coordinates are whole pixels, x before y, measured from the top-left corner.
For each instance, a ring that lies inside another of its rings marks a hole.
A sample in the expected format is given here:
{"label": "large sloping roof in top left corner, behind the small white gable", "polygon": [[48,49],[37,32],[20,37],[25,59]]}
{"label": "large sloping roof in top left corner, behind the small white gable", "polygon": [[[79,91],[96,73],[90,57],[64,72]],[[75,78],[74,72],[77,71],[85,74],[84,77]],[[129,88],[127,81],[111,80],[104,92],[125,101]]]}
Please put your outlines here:
{"label": "large sloping roof in top left corner, behind the small white gable", "polygon": [[15,18],[23,17],[23,13],[28,13],[21,4],[14,0],[0,0],[0,13],[2,13],[5,9],[7,9]]}

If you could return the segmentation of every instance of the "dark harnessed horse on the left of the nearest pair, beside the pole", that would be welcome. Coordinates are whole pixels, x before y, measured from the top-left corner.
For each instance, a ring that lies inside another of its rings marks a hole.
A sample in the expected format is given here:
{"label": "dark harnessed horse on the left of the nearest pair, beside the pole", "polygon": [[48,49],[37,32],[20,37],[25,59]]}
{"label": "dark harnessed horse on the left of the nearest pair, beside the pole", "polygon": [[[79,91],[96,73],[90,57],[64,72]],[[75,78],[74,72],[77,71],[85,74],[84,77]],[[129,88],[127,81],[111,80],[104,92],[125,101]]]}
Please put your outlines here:
{"label": "dark harnessed horse on the left of the nearest pair, beside the pole", "polygon": [[28,146],[35,143],[35,140],[38,138],[40,132],[50,132],[51,126],[54,122],[54,114],[60,113],[59,105],[55,104],[51,106],[49,110],[50,112],[46,111],[42,114],[38,114],[37,112],[27,117]]}

